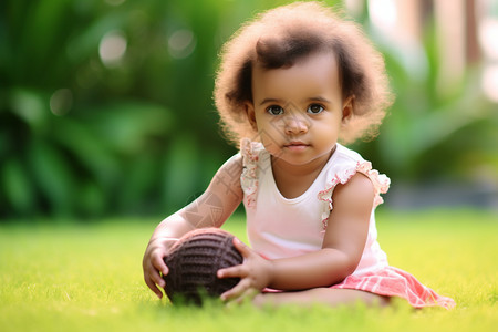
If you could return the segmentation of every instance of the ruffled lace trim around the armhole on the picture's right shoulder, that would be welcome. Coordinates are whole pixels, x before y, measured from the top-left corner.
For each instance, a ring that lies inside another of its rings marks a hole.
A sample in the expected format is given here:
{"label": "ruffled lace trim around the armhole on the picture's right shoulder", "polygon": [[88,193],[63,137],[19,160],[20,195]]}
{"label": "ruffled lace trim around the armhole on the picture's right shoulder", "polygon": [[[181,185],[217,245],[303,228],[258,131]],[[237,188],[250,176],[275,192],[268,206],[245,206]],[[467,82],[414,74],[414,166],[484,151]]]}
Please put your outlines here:
{"label": "ruffled lace trim around the armhole on the picture's right shoulder", "polygon": [[346,184],[357,172],[366,175],[374,185],[375,198],[373,207],[377,207],[384,199],[382,199],[381,194],[387,193],[391,179],[385,174],[378,174],[378,170],[372,169],[372,163],[370,162],[357,162],[355,168],[349,168],[341,173],[338,173],[335,177],[328,184],[326,188],[318,194],[318,199],[328,203],[328,206],[322,212],[322,225],[323,230],[326,229],[326,224],[329,221],[330,211],[332,210],[332,191],[336,185]]}

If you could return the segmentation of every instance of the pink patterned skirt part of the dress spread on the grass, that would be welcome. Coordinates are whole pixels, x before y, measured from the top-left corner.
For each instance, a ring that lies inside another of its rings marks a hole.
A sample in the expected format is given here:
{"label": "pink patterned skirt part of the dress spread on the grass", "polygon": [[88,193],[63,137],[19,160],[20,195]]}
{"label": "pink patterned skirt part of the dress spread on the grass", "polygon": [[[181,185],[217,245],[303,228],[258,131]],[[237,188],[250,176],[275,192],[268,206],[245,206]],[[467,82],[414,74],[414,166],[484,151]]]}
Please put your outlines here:
{"label": "pink patterned skirt part of the dress spread on the grass", "polygon": [[446,309],[455,307],[450,298],[437,294],[430,288],[422,284],[414,276],[394,267],[359,276],[351,274],[333,289],[355,289],[384,297],[401,297],[414,308],[440,305]]}

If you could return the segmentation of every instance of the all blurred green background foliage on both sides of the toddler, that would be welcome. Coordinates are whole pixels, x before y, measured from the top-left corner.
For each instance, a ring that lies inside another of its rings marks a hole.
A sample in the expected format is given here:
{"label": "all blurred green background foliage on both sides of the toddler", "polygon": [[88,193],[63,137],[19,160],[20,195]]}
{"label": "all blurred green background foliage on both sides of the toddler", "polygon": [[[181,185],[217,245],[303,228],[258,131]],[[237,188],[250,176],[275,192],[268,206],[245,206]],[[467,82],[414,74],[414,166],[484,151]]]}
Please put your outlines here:
{"label": "all blurred green background foliage on both sides of the toddler", "polygon": [[[211,100],[221,44],[287,2],[1,1],[0,217],[165,215],[185,205],[236,152]],[[496,111],[471,72],[449,96],[435,93],[432,35],[428,27],[423,80],[384,50],[397,102],[380,138],[354,147],[393,179],[496,170]],[[105,61],[103,41],[116,40],[124,55]]]}

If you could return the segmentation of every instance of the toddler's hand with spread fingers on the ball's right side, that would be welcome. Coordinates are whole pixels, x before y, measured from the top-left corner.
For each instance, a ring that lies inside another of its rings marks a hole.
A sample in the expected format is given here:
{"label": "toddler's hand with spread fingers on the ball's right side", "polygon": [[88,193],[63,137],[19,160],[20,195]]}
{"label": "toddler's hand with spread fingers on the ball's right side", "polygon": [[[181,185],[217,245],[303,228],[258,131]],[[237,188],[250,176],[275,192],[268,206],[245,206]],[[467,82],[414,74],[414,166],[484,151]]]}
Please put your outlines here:
{"label": "toddler's hand with spread fingers on the ball's right side", "polygon": [[240,278],[238,284],[221,294],[221,300],[241,302],[270,284],[272,263],[237,238],[234,238],[234,246],[242,255],[243,263],[218,270],[218,278]]}

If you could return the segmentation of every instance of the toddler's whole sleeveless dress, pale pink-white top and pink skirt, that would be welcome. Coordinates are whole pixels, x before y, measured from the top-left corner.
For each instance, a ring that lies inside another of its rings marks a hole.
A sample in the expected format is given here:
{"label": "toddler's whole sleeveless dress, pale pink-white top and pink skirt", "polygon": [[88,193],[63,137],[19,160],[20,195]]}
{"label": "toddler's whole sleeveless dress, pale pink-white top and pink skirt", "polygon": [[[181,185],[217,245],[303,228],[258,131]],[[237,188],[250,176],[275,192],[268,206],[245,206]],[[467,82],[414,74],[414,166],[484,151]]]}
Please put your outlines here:
{"label": "toddler's whole sleeveless dress, pale pink-white top and pink skirt", "polygon": [[387,297],[402,297],[416,308],[455,302],[440,297],[419,283],[412,274],[388,266],[387,257],[377,242],[375,207],[390,179],[372,169],[360,154],[338,144],[317,179],[299,197],[283,197],[274,183],[270,154],[261,143],[242,139],[240,145],[243,170],[240,177],[247,215],[247,232],[252,249],[267,259],[289,258],[320,250],[330,211],[332,193],[338,184],[346,184],[362,173],[374,186],[375,198],[369,235],[355,271],[332,288],[357,289]]}

